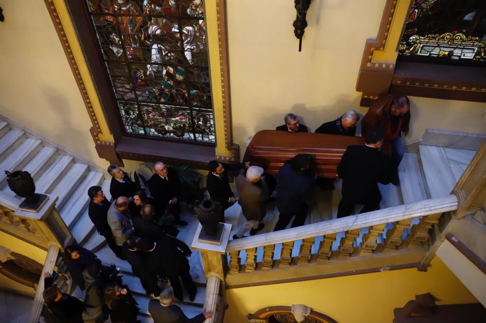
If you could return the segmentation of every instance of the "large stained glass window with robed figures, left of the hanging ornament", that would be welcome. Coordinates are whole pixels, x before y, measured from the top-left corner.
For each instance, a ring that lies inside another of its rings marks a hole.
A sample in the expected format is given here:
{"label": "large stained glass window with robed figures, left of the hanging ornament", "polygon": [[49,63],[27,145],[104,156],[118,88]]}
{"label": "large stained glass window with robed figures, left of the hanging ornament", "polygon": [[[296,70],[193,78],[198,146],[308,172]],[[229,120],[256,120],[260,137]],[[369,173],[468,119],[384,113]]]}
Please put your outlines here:
{"label": "large stained glass window with robed figures, left of the hanging ornament", "polygon": [[86,0],[125,131],[214,143],[203,0]]}

